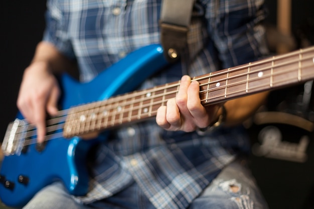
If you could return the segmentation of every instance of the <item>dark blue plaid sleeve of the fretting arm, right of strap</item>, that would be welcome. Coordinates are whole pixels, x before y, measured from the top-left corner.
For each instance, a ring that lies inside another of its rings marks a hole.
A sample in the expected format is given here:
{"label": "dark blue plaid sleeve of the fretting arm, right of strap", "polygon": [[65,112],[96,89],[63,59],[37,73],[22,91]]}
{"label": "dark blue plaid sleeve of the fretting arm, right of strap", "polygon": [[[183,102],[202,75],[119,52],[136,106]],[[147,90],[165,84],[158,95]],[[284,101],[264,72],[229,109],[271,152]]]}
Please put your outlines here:
{"label": "dark blue plaid sleeve of the fretting arm, right of strap", "polygon": [[208,30],[223,68],[255,61],[268,54],[262,0],[211,1],[206,16]]}

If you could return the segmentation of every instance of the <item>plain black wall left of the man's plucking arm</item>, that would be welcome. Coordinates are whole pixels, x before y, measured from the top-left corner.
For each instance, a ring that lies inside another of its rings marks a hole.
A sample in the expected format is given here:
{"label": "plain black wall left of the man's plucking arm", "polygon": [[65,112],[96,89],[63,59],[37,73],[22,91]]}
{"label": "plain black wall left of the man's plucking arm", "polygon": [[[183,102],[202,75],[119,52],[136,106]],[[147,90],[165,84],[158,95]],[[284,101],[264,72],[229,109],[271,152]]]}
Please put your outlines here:
{"label": "plain black wall left of the man's plucking arm", "polygon": [[1,1],[0,141],[17,113],[16,99],[24,69],[44,29],[46,1]]}

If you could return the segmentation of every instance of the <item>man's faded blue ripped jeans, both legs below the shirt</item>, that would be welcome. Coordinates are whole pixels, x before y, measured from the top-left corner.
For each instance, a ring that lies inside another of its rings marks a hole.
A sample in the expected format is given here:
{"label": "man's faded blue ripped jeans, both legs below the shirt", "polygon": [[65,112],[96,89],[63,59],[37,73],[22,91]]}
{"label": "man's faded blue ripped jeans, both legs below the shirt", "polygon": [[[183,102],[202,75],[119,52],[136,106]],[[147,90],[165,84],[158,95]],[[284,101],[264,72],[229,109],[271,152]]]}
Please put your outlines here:
{"label": "man's faded blue ripped jeans, both legs below the shirt", "polygon": [[[88,205],[76,202],[61,183],[51,184],[35,195],[24,209],[153,209],[136,183],[109,198]],[[241,161],[232,162],[197,197],[188,209],[268,208],[250,171]]]}

